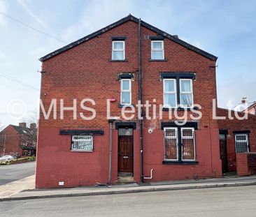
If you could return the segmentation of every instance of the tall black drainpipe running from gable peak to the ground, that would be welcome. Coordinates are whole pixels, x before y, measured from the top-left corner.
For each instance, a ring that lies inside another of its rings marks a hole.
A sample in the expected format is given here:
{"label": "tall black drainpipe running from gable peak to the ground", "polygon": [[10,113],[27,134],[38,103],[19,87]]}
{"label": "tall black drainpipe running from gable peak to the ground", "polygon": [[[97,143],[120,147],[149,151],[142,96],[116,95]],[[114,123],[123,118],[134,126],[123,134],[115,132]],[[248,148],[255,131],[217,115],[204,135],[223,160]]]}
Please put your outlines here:
{"label": "tall black drainpipe running from gable peak to the ground", "polygon": [[[138,99],[142,103],[142,72],[141,72],[141,18],[138,20]],[[141,182],[143,179],[143,110],[141,107],[140,122],[140,154],[141,154]]]}

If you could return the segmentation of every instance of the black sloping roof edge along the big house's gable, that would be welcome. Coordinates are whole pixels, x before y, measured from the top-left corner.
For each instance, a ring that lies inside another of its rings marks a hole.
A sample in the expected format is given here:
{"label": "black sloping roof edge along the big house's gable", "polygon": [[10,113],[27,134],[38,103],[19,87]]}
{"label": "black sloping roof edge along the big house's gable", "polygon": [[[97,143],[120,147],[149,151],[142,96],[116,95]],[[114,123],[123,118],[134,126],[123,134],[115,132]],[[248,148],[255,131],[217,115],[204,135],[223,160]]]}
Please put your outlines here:
{"label": "black sloping roof edge along the big house's gable", "polygon": [[[64,47],[62,47],[58,50],[55,50],[54,52],[51,52],[50,54],[45,55],[44,57],[41,57],[39,60],[42,61],[42,62],[46,61],[46,60],[48,60],[52,57],[57,56],[58,54],[61,54],[62,52],[65,52],[66,50],[69,50],[73,47],[76,47],[77,45],[80,45],[81,43],[84,43],[87,40],[90,40],[94,37],[97,37],[97,36],[101,35],[101,33],[104,33],[108,30],[111,30],[115,27],[118,27],[121,24],[124,24],[125,22],[127,22],[129,20],[131,20],[133,22],[136,22],[136,23],[139,22],[138,18],[134,17],[133,15],[128,15],[127,17],[124,17],[121,20],[118,20],[117,22],[114,22],[113,24],[108,25],[107,27],[99,29],[98,31],[95,31],[94,33],[91,33],[88,36],[80,38],[79,40],[76,40],[73,43],[70,43],[69,45],[66,45],[66,46],[64,46]],[[165,38],[169,38],[173,42],[178,43],[179,45],[182,45],[183,47],[187,48],[188,50],[192,50],[194,52],[197,52],[201,56],[204,56],[204,57],[206,57],[208,59],[211,59],[213,61],[216,61],[218,59],[218,57],[215,57],[213,54],[209,54],[208,52],[205,52],[204,50],[201,50],[198,47],[194,47],[193,45],[190,45],[189,43],[186,43],[184,40],[180,40],[176,36],[172,36],[169,33],[166,33],[165,31],[157,29],[157,27],[153,27],[152,25],[144,22],[143,20],[141,20],[141,25],[145,28],[148,28],[152,31],[155,31],[155,33],[158,33],[160,36],[164,36]]]}

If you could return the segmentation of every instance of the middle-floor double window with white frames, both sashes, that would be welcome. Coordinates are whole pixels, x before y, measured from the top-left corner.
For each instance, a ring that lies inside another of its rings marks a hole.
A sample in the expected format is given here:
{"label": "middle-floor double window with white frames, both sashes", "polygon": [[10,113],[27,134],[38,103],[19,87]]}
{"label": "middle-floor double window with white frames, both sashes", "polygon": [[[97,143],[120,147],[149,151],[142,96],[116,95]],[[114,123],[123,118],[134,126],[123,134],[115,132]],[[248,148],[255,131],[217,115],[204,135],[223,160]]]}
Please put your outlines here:
{"label": "middle-floor double window with white frames, both sashes", "polygon": [[[176,87],[178,84],[178,88]],[[164,79],[164,107],[192,107],[193,99],[193,83],[192,79]]]}

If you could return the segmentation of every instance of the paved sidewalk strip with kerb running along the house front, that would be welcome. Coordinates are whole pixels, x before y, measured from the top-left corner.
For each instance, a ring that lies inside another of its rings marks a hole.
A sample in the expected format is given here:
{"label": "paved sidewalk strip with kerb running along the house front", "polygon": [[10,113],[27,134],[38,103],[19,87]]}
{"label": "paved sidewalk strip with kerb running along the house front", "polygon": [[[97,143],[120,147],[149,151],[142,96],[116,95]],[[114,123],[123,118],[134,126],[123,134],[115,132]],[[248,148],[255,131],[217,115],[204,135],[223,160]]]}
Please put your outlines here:
{"label": "paved sidewalk strip with kerb running along the house front", "polygon": [[[31,181],[34,184],[34,177],[28,177],[30,180],[29,189],[31,189]],[[150,184],[129,184],[129,185],[115,185],[115,186],[94,186],[94,187],[79,187],[79,188],[57,188],[45,190],[24,190],[20,193],[11,193],[7,195],[0,195],[0,201],[4,200],[27,200],[50,197],[75,197],[87,195],[110,195],[121,193],[138,193],[148,191],[160,190],[186,190],[196,188],[220,188],[227,186],[250,186],[256,185],[256,177],[232,177],[220,179],[200,179],[187,181],[162,181],[152,182]],[[15,184],[13,184],[15,186]],[[11,187],[11,186],[9,186]]]}

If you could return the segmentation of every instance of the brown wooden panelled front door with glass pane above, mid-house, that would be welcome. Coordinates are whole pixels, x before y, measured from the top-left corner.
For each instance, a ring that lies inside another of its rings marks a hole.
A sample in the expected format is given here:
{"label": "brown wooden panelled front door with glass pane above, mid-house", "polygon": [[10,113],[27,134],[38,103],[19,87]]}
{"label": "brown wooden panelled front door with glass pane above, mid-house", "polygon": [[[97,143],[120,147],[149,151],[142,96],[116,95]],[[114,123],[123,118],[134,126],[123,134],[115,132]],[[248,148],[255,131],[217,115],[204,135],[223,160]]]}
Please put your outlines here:
{"label": "brown wooden panelled front door with glass pane above, mid-house", "polygon": [[118,172],[134,172],[134,137],[132,128],[118,130]]}

